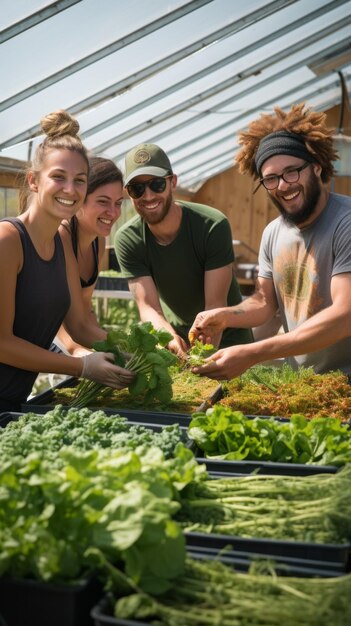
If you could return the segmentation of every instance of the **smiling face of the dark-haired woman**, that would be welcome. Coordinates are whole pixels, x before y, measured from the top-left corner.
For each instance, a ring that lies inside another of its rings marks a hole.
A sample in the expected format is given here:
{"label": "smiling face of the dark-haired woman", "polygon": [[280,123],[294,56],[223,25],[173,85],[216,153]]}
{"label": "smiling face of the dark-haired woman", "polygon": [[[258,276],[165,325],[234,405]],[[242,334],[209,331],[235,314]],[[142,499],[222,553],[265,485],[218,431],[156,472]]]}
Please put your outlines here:
{"label": "smiling face of the dark-haired woman", "polygon": [[121,215],[123,187],[121,182],[107,183],[90,193],[77,214],[79,226],[94,237],[107,237]]}

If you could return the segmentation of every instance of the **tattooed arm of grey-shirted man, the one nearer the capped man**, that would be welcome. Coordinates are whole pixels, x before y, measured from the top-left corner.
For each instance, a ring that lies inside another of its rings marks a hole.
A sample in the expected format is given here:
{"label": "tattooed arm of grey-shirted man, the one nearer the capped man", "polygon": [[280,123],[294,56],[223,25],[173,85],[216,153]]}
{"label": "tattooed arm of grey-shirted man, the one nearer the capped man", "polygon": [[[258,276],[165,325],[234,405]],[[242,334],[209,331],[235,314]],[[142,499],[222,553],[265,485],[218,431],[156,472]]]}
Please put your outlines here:
{"label": "tattooed arm of grey-shirted man, the one nearer the capped man", "polygon": [[252,296],[232,307],[202,311],[190,329],[194,338],[213,343],[225,328],[253,328],[272,319],[278,308],[273,281],[258,278]]}

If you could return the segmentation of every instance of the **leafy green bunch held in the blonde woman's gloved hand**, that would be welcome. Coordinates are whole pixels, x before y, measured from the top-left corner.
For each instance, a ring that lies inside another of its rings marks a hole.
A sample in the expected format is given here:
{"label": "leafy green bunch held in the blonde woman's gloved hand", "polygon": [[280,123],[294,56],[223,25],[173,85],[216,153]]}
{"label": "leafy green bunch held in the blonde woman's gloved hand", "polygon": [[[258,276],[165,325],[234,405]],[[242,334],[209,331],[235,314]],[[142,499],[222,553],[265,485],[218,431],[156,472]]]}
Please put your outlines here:
{"label": "leafy green bunch held in the blonde woman's gloved hand", "polygon": [[[171,335],[164,329],[156,330],[151,322],[134,324],[128,333],[109,331],[105,341],[93,345],[94,350],[112,352],[115,364],[135,373],[128,386],[132,396],[143,395],[145,404],[157,398],[162,402],[172,397],[172,379],[168,368],[176,357],[166,346]],[[83,408],[92,405],[98,396],[108,398],[113,389],[90,380],[81,380],[70,406]]]}

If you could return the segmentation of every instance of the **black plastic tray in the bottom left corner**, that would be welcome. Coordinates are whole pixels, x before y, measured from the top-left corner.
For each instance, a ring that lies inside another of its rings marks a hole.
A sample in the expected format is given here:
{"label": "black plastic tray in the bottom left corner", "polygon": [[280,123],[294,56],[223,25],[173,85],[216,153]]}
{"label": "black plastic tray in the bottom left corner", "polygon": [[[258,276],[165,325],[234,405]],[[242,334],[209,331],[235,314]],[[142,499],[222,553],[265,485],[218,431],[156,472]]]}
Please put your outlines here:
{"label": "black plastic tray in the bottom left corner", "polygon": [[103,595],[95,579],[54,585],[3,577],[0,616],[6,626],[92,626],[91,609]]}

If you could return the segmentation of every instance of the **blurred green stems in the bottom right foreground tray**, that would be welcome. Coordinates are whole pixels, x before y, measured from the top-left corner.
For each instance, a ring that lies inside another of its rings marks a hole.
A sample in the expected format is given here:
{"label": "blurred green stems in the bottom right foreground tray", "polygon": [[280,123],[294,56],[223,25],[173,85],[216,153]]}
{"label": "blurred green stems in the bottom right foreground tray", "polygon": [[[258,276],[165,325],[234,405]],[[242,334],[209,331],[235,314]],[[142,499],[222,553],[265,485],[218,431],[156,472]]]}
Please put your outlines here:
{"label": "blurred green stems in the bottom right foreground tray", "polygon": [[155,597],[133,585],[129,593],[115,602],[114,614],[119,620],[163,626],[351,623],[350,574],[336,578],[278,577],[268,565],[252,566],[242,574],[220,561],[188,558],[184,574],[173,581],[167,593]]}

